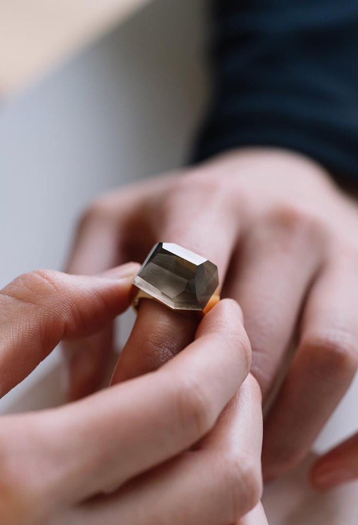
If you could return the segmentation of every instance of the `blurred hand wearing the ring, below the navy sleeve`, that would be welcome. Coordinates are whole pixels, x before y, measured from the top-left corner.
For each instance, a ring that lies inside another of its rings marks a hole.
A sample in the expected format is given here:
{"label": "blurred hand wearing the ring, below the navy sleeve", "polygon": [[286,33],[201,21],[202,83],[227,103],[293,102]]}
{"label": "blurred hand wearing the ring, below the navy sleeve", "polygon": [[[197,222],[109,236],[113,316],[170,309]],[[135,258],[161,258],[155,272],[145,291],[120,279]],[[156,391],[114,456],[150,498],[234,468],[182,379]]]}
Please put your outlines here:
{"label": "blurred hand wearing the ring, below the navy sleeve", "polygon": [[[265,401],[297,338],[265,424],[262,459],[272,477],[307,453],[354,376],[357,231],[357,206],[319,165],[251,148],[100,198],[81,221],[69,269],[91,273],[143,260],[159,240],[208,257],[218,265],[223,295],[243,308],[251,370]],[[168,315],[143,304],[136,326],[145,344],[136,355],[135,327],[115,381],[155,369],[191,341],[193,322]],[[68,350],[72,397],[96,387],[110,334],[108,325],[96,341]],[[89,359],[81,373],[77,363]]]}

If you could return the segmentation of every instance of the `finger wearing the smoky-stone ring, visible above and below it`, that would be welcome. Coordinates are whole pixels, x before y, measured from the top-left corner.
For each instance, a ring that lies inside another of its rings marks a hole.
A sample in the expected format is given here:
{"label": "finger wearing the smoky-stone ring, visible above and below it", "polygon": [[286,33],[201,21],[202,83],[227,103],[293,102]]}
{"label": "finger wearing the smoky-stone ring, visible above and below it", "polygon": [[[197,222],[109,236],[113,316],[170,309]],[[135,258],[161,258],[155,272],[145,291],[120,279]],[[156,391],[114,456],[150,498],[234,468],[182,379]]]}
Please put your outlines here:
{"label": "finger wearing the smoky-stone ring, visible above and below it", "polygon": [[[220,282],[238,235],[238,203],[228,199],[224,186],[218,187],[210,182],[203,184],[202,181],[197,184],[196,180],[181,177],[176,182],[175,191],[171,187],[171,193],[162,196],[160,206],[155,202],[149,220],[156,240],[180,244],[214,262]],[[199,214],[198,209],[201,209]],[[184,317],[154,301],[141,301],[112,383],[163,364],[192,340],[197,323],[195,318]]]}

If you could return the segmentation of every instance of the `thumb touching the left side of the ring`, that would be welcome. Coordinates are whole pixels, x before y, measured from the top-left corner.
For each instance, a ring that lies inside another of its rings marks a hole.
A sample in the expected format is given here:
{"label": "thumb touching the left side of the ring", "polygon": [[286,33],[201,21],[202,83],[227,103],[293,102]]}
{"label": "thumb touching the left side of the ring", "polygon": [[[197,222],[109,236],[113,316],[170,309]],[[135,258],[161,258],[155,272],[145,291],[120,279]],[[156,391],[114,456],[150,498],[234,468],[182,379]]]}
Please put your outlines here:
{"label": "thumb touching the left side of the ring", "polygon": [[0,292],[0,396],[22,381],[61,339],[83,337],[128,307],[138,265],[84,277],[38,270]]}

